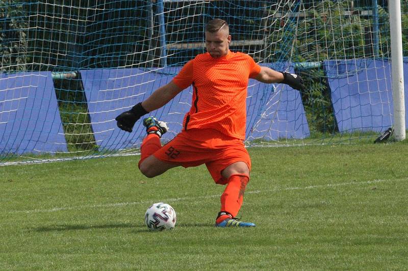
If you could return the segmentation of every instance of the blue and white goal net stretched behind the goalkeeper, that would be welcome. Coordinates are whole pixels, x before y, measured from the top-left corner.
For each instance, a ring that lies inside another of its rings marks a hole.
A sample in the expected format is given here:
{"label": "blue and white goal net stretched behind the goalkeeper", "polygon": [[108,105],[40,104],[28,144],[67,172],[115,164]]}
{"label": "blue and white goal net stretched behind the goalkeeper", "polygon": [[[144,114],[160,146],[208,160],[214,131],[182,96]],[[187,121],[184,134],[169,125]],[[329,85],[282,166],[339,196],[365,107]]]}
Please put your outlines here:
{"label": "blue and white goal net stretched behind the goalkeeper", "polygon": [[[405,78],[408,2],[401,1]],[[393,125],[387,1],[0,1],[0,164],[137,153],[115,117],[206,52],[207,21],[230,49],[300,74],[300,93],[249,80],[247,146],[373,141]],[[408,82],[406,80],[405,82]],[[407,88],[405,83],[405,88]],[[182,129],[192,89],[151,115]],[[405,93],[405,104],[407,104]]]}

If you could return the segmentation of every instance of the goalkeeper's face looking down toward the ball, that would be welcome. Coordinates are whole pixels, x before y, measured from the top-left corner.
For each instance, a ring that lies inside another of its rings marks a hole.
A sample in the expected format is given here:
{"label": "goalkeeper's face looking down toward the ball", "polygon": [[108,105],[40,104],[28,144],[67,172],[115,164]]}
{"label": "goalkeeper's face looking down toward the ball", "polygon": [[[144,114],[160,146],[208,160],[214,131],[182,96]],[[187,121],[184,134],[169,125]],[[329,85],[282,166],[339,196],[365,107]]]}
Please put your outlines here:
{"label": "goalkeeper's face looking down toward the ball", "polygon": [[213,58],[226,56],[230,42],[231,35],[229,35],[226,30],[220,29],[216,33],[206,32],[207,51]]}

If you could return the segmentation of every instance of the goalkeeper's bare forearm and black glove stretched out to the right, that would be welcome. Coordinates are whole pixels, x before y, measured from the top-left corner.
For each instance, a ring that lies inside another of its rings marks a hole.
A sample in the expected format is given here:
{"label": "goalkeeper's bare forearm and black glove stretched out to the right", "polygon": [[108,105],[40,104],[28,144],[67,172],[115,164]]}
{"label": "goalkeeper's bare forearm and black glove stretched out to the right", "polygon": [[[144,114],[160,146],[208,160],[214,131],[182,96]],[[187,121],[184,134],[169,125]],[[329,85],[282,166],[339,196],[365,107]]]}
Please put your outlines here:
{"label": "goalkeeper's bare forearm and black glove stretched out to the right", "polygon": [[304,90],[303,79],[300,75],[289,73],[289,72],[279,72],[272,70],[268,67],[261,67],[260,73],[255,77],[259,82],[271,84],[271,83],[282,83],[289,85],[291,88],[296,90]]}

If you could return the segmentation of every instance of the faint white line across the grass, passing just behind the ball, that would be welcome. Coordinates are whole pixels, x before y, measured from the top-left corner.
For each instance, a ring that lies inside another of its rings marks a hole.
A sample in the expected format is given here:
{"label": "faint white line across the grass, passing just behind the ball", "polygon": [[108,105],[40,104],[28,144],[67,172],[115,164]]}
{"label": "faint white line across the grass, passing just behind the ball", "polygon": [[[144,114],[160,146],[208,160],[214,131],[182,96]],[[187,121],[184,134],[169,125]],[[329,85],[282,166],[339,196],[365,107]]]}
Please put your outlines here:
{"label": "faint white line across the grass, passing just behind the ball", "polygon": [[[323,187],[336,187],[336,186],[347,186],[347,185],[360,185],[360,184],[370,184],[370,183],[379,183],[379,182],[389,182],[389,181],[406,181],[408,178],[402,179],[388,179],[388,180],[372,180],[364,182],[342,182],[342,183],[328,183],[322,185],[311,185],[304,187],[286,187],[286,188],[274,188],[268,190],[254,190],[246,191],[245,194],[260,194],[260,193],[270,193],[278,191],[290,191],[290,190],[304,190],[304,189],[315,189]],[[163,200],[163,202],[176,202],[176,201],[187,201],[187,200],[197,200],[197,199],[211,199],[218,198],[221,195],[207,195],[207,196],[193,196],[193,197],[184,197],[184,198],[168,198]],[[78,209],[87,209],[87,208],[109,208],[109,207],[121,207],[129,205],[147,205],[151,201],[136,201],[136,202],[118,202],[118,203],[108,203],[108,204],[96,204],[96,205],[82,205],[82,206],[71,206],[71,207],[55,207],[52,209],[33,209],[33,210],[14,210],[9,213],[38,213],[38,212],[57,212],[57,211],[66,211],[66,210],[78,210]]]}

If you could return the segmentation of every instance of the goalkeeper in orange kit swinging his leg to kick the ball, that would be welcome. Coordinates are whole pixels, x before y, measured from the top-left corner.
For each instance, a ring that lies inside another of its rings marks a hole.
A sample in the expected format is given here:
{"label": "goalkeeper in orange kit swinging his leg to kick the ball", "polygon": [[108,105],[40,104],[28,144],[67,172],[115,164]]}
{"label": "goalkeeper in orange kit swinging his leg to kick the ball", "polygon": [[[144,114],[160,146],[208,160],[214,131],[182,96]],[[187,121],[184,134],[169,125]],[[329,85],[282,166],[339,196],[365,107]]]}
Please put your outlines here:
{"label": "goalkeeper in orange kit swinging his leg to kick the ball", "polygon": [[230,51],[231,35],[224,20],[209,21],[205,34],[207,52],[186,63],[170,83],[117,116],[117,125],[132,132],[143,115],[192,86],[192,105],[184,117],[183,129],[168,144],[162,147],[160,143],[160,137],[168,130],[164,122],[154,117],[143,120],[147,137],[141,145],[139,169],[151,178],[174,167],[206,164],[215,183],[226,185],[215,225],[254,227],[255,224],[236,218],[251,170],[243,144],[248,80],[283,83],[300,91],[304,89],[303,80],[296,74],[261,67],[245,53]]}

